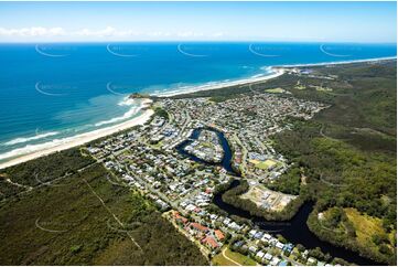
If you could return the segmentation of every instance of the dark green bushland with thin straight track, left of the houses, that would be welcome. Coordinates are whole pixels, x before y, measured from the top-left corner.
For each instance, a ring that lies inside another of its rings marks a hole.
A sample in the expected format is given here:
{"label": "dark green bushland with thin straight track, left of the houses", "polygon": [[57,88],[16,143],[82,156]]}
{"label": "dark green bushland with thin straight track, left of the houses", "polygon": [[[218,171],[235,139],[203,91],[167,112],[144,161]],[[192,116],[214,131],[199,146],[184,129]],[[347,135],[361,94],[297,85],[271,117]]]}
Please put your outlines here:
{"label": "dark green bushland with thin straight track, left of the houses", "polygon": [[[152,202],[110,183],[106,169],[90,162],[75,149],[2,170],[33,186],[0,204],[2,265],[207,264]],[[52,182],[36,184],[31,173],[39,170]],[[56,179],[65,172],[72,174]]]}

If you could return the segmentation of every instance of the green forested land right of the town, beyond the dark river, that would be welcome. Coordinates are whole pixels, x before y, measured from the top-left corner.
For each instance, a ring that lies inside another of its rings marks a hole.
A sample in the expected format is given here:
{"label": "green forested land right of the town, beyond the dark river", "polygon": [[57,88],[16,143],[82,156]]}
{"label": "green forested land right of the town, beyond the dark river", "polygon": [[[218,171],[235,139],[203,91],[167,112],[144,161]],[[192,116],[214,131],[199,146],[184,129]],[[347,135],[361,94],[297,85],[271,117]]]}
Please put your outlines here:
{"label": "green forested land right of the town, beyond the dark river", "polygon": [[[316,203],[308,222],[311,231],[324,241],[390,265],[396,264],[396,241],[386,242],[379,235],[395,235],[397,227],[395,64],[315,68],[321,75],[338,76],[323,82],[333,88],[333,95],[315,89],[291,92],[331,107],[310,121],[291,119],[292,130],[273,137],[276,149],[305,173],[306,197]],[[303,84],[320,83],[300,79]],[[297,168],[271,186],[286,190],[287,177],[297,177]],[[298,179],[291,183],[297,186]],[[318,217],[321,212],[324,220]],[[383,231],[376,231],[374,241],[368,235],[364,238],[363,227],[355,221],[369,227],[377,221]]]}

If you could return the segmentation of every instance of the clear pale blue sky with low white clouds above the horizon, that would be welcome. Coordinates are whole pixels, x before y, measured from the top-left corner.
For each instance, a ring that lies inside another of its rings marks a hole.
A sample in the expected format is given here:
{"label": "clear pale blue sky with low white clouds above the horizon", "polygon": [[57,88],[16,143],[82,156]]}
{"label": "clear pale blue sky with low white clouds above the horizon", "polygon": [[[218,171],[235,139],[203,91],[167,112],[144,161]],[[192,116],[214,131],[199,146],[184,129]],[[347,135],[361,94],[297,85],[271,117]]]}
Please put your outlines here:
{"label": "clear pale blue sky with low white clouds above the horizon", "polygon": [[0,42],[396,40],[396,2],[0,2]]}

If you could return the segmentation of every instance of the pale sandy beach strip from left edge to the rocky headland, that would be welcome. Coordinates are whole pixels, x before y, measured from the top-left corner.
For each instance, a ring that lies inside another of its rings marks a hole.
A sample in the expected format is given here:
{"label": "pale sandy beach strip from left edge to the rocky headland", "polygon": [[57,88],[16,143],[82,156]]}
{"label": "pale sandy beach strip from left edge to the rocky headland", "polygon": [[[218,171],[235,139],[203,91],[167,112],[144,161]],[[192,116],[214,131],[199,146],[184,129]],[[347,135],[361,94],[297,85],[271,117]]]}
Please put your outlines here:
{"label": "pale sandy beach strip from left edge to the rocky headland", "polygon": [[[142,105],[144,108],[147,108],[150,106],[151,103],[152,103],[151,99],[144,99],[142,102]],[[37,151],[32,151],[32,152],[28,152],[25,154],[17,156],[15,158],[12,158],[10,160],[6,159],[4,162],[0,163],[0,170],[6,169],[11,165],[15,165],[15,164],[19,164],[22,162],[26,162],[26,161],[40,158],[43,156],[49,156],[54,152],[66,150],[66,149],[73,148],[73,147],[78,147],[84,143],[90,142],[95,139],[114,135],[116,132],[126,130],[126,129],[131,128],[137,125],[143,125],[151,118],[153,113],[154,111],[152,109],[143,109],[142,114],[139,115],[138,117],[135,117],[135,118],[123,121],[121,124],[105,127],[101,129],[96,129],[96,130],[88,131],[88,132],[84,132],[84,134],[80,134],[77,136],[66,137],[63,139],[54,139],[54,140],[52,140],[52,142],[54,142],[54,146],[52,146],[52,147],[43,148],[43,149],[40,149],[40,147],[39,147]],[[44,146],[44,145],[47,145],[47,142],[34,145],[34,146]],[[21,149],[23,149],[23,148],[21,148]]]}

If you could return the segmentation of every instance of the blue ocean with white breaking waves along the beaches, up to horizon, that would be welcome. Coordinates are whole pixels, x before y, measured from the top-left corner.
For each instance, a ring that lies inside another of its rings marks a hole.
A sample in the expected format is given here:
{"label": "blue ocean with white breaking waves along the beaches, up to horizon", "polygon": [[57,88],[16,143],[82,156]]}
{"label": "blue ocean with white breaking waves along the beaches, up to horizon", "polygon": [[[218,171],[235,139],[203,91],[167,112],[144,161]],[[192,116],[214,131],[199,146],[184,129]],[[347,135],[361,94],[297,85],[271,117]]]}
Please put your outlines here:
{"label": "blue ocean with white breaking waves along the beaches, up to horizon", "polygon": [[140,115],[161,95],[270,74],[270,66],[395,57],[396,44],[0,44],[0,162]]}

